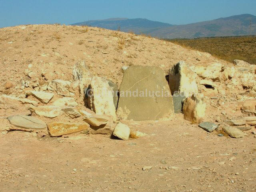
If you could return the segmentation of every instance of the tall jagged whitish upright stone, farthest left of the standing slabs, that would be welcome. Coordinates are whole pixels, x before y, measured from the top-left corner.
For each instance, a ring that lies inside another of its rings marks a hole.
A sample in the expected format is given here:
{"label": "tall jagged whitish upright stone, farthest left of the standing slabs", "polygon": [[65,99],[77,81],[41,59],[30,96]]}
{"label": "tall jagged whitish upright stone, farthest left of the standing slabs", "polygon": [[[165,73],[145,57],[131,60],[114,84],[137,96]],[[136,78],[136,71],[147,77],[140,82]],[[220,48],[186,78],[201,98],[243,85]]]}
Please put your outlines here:
{"label": "tall jagged whitish upright stone, farthest left of the standing slabs", "polygon": [[80,96],[82,96],[84,88],[88,87],[92,79],[92,75],[84,60],[79,61],[74,65],[72,74],[75,81],[79,80],[79,92]]}

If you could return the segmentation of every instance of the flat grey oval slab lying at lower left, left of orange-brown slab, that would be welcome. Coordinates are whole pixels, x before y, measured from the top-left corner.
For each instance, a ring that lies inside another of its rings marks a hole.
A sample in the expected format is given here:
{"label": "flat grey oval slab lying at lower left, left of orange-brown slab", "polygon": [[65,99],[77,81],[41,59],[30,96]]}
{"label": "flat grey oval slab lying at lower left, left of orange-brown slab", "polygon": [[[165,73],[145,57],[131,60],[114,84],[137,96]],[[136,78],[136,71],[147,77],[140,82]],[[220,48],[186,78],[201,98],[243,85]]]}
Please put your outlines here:
{"label": "flat grey oval slab lying at lower left, left of orange-brown slab", "polygon": [[25,116],[25,115],[9,116],[8,120],[10,121],[10,124],[17,127],[25,128],[25,129],[46,128],[45,122],[32,116]]}

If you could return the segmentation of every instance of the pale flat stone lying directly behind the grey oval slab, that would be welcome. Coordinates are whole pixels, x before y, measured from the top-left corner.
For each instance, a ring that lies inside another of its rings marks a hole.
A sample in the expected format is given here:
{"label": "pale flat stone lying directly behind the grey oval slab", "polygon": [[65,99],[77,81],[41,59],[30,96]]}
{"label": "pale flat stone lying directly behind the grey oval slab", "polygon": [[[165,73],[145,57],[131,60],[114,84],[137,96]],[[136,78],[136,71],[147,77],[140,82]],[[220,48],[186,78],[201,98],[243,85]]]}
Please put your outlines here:
{"label": "pale flat stone lying directly behind the grey oval slab", "polygon": [[61,107],[58,106],[30,106],[29,110],[31,113],[35,113],[38,116],[54,118],[62,115],[64,112]]}

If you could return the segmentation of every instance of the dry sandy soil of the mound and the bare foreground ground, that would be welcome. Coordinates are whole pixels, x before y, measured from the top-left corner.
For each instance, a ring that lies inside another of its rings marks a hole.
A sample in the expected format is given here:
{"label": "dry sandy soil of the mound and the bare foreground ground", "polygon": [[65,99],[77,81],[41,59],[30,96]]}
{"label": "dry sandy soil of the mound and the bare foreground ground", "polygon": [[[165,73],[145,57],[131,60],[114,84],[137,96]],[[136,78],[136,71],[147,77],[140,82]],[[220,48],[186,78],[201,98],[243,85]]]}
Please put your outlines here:
{"label": "dry sandy soil of the mound and the bare foreground ground", "polygon": [[[101,28],[15,26],[1,28],[0,40],[0,84],[10,80],[15,85],[0,91],[16,96],[24,94],[19,87],[27,78],[26,69],[31,69],[33,80],[43,86],[53,79],[72,80],[72,68],[79,60],[86,61],[93,75],[118,85],[122,66],[154,65],[166,74],[180,60],[189,66],[213,62],[232,66],[208,53]],[[42,80],[42,73],[49,73],[49,79]],[[206,102],[204,120],[222,122],[246,116],[236,109],[236,92],[218,95],[218,99],[208,97]],[[244,138],[219,137],[219,132],[208,133],[175,114],[169,121],[121,120],[132,130],[147,134],[127,141],[100,134],[53,138],[35,132],[7,133],[6,117],[25,113],[24,106],[0,108],[0,191],[256,191],[254,127]],[[142,170],[144,166],[152,168]]]}

